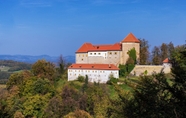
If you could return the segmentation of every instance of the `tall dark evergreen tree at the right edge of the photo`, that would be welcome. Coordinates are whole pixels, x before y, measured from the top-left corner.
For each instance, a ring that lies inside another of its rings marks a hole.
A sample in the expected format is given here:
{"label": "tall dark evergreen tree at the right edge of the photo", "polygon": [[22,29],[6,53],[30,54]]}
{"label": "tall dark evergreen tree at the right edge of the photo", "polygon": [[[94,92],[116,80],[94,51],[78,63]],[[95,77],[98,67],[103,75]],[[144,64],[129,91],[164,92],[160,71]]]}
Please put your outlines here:
{"label": "tall dark evergreen tree at the right edge of the photo", "polygon": [[176,117],[186,116],[186,46],[178,46],[171,54],[172,73],[174,79],[170,89],[173,94],[171,102],[174,103]]}

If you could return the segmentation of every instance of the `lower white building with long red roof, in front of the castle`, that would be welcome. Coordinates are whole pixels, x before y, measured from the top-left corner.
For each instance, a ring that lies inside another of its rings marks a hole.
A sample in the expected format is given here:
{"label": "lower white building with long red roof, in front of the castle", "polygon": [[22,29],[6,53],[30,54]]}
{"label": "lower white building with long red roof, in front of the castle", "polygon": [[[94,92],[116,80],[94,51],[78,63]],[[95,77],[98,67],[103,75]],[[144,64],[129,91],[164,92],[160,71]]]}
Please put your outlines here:
{"label": "lower white building with long red roof, in front of the castle", "polygon": [[68,68],[68,81],[87,75],[90,82],[106,83],[110,76],[119,78],[118,70],[113,64],[72,64]]}

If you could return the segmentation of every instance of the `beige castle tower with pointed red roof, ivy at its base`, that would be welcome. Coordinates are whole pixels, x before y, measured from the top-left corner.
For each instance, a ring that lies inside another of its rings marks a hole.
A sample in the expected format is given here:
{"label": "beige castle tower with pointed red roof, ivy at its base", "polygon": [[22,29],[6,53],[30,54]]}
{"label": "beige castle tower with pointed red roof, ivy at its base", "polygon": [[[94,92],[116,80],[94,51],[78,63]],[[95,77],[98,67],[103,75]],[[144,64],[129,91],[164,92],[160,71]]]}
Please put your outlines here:
{"label": "beige castle tower with pointed red roof, ivy at its base", "polygon": [[139,60],[139,54],[140,54],[140,41],[132,34],[129,33],[122,41],[122,51],[121,51],[121,58],[120,58],[120,64],[125,64],[127,59],[129,58],[127,52],[131,50],[132,48],[135,48],[136,50],[136,57],[137,60]]}

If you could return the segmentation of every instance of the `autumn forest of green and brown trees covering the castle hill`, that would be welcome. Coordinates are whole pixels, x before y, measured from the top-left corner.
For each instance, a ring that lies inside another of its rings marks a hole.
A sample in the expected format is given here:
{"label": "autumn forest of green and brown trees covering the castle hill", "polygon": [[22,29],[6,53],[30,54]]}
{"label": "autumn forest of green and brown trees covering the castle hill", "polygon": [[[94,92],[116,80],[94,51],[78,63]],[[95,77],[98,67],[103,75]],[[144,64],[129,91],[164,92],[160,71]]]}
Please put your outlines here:
{"label": "autumn forest of green and brown trees covering the castle hill", "polygon": [[[147,56],[139,63],[149,64],[148,46],[141,44],[140,50],[145,50],[142,54]],[[164,58],[160,50],[163,48],[153,49],[153,64],[161,63]],[[51,62],[38,60],[30,70],[11,74],[6,87],[0,89],[0,117],[184,118],[186,46],[173,46],[167,51],[166,56],[172,64],[170,74],[127,75],[123,79],[111,76],[106,84],[90,83],[88,76],[67,81],[69,64],[63,57],[57,67]],[[135,58],[129,60],[132,59]],[[134,63],[135,60],[128,62]]]}

